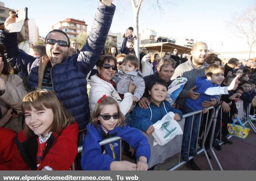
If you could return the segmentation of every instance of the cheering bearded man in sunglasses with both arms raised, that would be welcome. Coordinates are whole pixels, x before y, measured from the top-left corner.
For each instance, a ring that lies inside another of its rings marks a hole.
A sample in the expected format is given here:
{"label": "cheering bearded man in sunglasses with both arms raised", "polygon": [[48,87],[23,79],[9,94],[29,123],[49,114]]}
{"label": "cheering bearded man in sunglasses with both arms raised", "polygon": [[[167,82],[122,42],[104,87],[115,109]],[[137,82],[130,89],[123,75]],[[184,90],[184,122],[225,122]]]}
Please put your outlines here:
{"label": "cheering bearded man in sunglasses with both arms raised", "polygon": [[9,33],[15,22],[10,11],[0,28],[0,43],[5,47],[10,65],[29,75],[28,90],[48,89],[56,93],[63,106],[74,116],[79,130],[90,119],[86,76],[99,59],[108,36],[116,6],[112,0],[100,0],[92,30],[80,54],[68,56],[70,41],[66,33],[52,30],[45,38],[47,56],[35,58],[19,51],[17,33]]}

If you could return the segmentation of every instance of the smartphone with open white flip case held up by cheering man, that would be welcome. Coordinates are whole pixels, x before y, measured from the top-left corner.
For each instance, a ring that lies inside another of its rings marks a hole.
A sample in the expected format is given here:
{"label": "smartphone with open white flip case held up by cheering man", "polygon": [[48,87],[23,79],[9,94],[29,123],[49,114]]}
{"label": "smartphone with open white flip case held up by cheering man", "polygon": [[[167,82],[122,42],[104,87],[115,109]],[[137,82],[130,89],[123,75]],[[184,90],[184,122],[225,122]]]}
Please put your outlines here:
{"label": "smartphone with open white flip case held up by cheering man", "polygon": [[16,12],[16,21],[12,23],[9,33],[20,32],[25,20],[28,19],[28,8],[23,8],[22,10]]}

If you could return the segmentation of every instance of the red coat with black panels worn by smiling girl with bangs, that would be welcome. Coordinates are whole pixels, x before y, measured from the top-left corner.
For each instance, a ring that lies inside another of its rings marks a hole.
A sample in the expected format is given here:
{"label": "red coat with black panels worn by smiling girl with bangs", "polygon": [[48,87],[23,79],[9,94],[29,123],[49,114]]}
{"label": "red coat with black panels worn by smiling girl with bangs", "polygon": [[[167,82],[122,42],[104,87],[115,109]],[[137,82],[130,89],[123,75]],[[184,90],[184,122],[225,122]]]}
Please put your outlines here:
{"label": "red coat with black panels worn by smiling girl with bangs", "polygon": [[53,133],[47,141],[46,154],[36,167],[37,136],[27,138],[22,130],[13,152],[12,170],[41,170],[49,166],[53,170],[68,170],[77,154],[78,124],[70,124],[60,133]]}

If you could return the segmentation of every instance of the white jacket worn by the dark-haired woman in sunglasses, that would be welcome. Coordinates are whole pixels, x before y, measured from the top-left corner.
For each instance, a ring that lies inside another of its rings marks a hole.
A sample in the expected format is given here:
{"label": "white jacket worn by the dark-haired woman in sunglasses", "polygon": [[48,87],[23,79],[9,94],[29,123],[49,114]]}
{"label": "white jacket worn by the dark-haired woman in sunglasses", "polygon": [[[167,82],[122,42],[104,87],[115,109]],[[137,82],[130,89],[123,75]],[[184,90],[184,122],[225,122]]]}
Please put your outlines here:
{"label": "white jacket worn by the dark-haired woman in sunglasses", "polygon": [[118,92],[116,89],[112,86],[112,84],[100,79],[98,76],[93,75],[91,77],[91,89],[89,93],[89,107],[90,107],[90,114],[92,116],[92,112],[95,108],[96,102],[104,95],[113,97],[120,109],[121,112],[126,115],[128,111],[130,110],[133,102],[133,95],[131,93],[125,93],[124,99],[120,98]]}

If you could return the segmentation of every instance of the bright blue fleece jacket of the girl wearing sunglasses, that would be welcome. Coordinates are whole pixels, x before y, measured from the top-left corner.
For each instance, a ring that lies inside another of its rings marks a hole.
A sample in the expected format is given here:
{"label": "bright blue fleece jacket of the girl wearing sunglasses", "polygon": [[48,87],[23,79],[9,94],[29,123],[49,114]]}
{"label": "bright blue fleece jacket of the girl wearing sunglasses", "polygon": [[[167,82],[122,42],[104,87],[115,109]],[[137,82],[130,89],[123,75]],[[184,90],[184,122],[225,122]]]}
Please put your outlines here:
{"label": "bright blue fleece jacket of the girl wearing sunglasses", "polygon": [[[87,133],[84,137],[83,143],[83,156],[81,159],[81,165],[83,170],[110,170],[110,163],[113,161],[119,161],[120,145],[119,140],[112,142],[114,147],[115,159],[113,159],[113,152],[110,148],[110,144],[104,146],[106,154],[101,153],[101,147],[99,142],[102,141],[101,132],[104,133],[100,124],[99,128],[96,128],[93,124],[87,125]],[[108,134],[117,133],[116,136],[120,136],[125,140],[132,148],[136,150],[136,158],[145,156],[150,159],[150,146],[148,139],[136,128],[129,126],[115,127]],[[104,133],[105,134],[105,133]]]}

